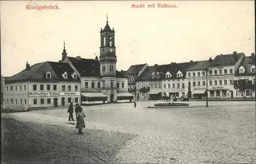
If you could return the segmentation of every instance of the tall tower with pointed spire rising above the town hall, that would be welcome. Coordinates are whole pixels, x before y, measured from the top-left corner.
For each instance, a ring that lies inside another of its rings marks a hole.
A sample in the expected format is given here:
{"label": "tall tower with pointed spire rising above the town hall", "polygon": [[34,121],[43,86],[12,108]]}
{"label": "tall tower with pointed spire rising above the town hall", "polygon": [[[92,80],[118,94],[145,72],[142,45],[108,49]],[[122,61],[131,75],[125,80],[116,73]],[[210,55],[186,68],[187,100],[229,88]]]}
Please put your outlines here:
{"label": "tall tower with pointed spire rising above the town hall", "polygon": [[100,75],[116,76],[115,30],[111,30],[106,15],[106,26],[100,30]]}

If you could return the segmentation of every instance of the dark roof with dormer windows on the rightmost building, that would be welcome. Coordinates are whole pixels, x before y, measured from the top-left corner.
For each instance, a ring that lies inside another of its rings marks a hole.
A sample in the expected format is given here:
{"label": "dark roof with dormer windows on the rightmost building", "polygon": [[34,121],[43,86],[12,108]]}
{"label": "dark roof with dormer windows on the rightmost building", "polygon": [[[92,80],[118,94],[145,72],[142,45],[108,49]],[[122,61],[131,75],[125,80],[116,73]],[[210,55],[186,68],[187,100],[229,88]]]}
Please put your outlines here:
{"label": "dark roof with dormer windows on the rightmost building", "polygon": [[[234,73],[234,76],[255,76],[255,72],[252,73],[251,72],[251,66],[254,65],[255,66],[255,56],[245,56],[242,60],[242,62],[240,63],[240,65],[238,66],[238,69],[236,70],[236,73]],[[240,73],[239,69],[240,67],[243,66],[244,67],[244,73]]]}

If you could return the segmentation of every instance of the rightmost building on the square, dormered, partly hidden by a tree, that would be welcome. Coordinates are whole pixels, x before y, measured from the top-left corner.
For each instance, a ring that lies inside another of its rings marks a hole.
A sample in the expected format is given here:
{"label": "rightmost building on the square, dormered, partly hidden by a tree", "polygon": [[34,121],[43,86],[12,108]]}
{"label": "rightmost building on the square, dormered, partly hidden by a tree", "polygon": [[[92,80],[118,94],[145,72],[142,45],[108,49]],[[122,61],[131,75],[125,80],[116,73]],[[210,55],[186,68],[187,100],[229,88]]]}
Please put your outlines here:
{"label": "rightmost building on the square, dormered, partly hidden by a tree", "polygon": [[[240,63],[236,73],[234,75],[234,80],[247,79],[252,81],[252,84],[255,85],[255,55],[254,53],[251,56],[246,56],[243,58]],[[255,98],[254,89],[246,89],[244,92],[241,90],[236,90],[234,93],[234,98]]]}

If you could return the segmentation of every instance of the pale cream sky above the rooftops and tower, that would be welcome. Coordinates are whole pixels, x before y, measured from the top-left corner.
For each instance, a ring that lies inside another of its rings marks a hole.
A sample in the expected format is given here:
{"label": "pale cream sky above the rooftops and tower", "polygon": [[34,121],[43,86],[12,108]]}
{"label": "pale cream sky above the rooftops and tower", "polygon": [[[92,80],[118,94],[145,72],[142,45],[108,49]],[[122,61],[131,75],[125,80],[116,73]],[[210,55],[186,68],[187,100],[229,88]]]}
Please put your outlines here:
{"label": "pale cream sky above the rooftops and tower", "polygon": [[[99,57],[106,14],[114,27],[118,71],[131,65],[208,60],[255,53],[254,1],[1,1],[1,74],[68,56]],[[145,8],[132,8],[144,4]],[[147,5],[155,4],[155,8]],[[158,8],[158,4],[176,8]],[[29,10],[27,5],[57,5]]]}

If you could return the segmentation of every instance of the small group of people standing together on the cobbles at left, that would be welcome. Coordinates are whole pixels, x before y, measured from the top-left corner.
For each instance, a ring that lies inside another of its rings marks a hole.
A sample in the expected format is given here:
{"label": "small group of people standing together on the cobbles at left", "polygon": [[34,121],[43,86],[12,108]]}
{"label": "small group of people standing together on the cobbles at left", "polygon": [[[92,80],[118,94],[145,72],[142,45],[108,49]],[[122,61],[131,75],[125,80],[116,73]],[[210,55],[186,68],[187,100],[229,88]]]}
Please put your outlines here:
{"label": "small group of people standing together on the cobbles at left", "polygon": [[[69,121],[75,121],[73,117],[74,113],[74,108],[73,108],[73,103],[70,103],[69,109]],[[84,123],[84,119],[86,115],[82,112],[82,108],[79,106],[79,104],[76,104],[75,107],[75,113],[76,113],[76,129],[78,129],[78,134],[83,134],[82,133],[82,128],[86,127],[86,123]]]}

